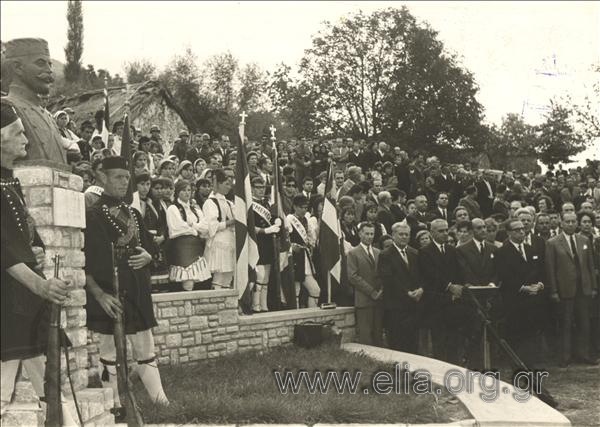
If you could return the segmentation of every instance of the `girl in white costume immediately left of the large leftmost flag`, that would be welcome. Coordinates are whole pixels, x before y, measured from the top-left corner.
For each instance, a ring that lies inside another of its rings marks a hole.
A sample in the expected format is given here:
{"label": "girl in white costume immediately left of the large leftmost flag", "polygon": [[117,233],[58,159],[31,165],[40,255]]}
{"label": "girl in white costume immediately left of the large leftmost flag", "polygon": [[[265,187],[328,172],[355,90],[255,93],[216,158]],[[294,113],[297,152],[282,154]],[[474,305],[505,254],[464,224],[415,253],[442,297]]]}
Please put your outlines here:
{"label": "girl in white costume immediately left of the large leftmost flag", "polygon": [[230,288],[235,270],[235,219],[233,203],[225,198],[233,182],[223,169],[214,171],[214,191],[202,210],[208,223],[206,262],[213,273],[215,289]]}

